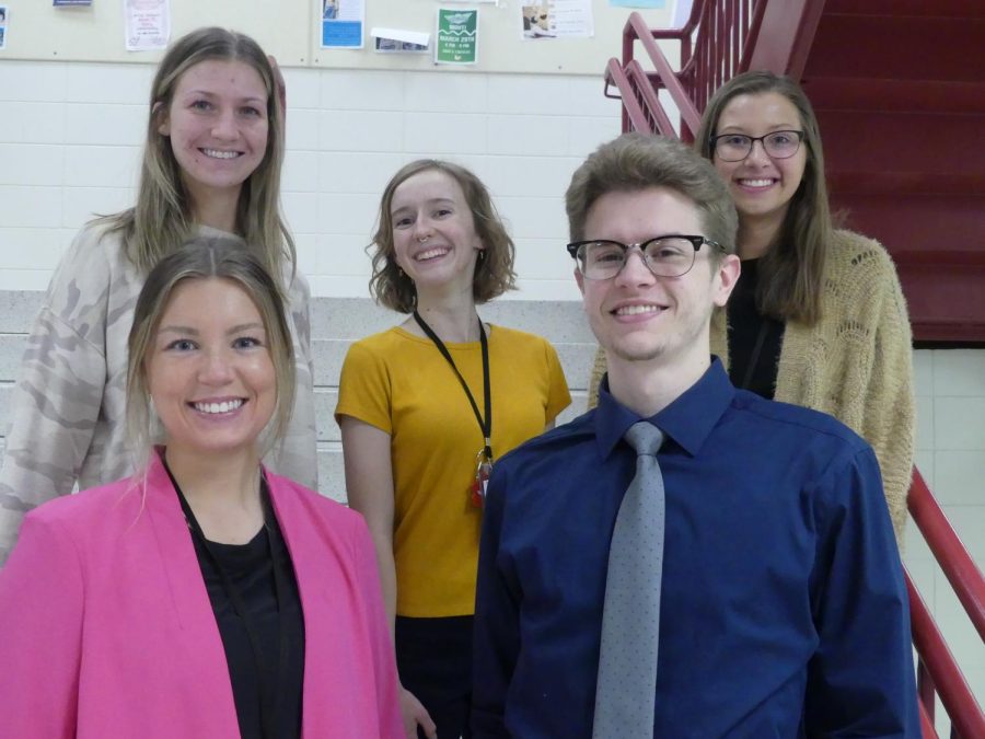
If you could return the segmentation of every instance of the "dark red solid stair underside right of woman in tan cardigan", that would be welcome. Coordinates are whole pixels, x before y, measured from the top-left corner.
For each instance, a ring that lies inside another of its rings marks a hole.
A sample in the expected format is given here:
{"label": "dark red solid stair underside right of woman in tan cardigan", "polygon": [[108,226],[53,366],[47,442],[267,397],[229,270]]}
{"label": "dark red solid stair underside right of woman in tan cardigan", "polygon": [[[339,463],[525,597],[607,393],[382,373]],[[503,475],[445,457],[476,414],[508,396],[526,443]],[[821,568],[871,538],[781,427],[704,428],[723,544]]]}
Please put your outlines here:
{"label": "dark red solid stair underside right of woman in tan cardigan", "polygon": [[892,253],[915,337],[985,340],[985,2],[827,0],[802,83],[832,205]]}

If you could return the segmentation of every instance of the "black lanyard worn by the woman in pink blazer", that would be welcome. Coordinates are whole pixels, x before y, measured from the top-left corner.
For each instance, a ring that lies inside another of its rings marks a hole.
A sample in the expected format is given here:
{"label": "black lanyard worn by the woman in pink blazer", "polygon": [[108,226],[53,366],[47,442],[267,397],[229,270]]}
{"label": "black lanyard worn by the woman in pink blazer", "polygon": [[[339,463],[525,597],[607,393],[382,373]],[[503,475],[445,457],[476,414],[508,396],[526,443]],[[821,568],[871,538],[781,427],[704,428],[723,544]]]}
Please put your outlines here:
{"label": "black lanyard worn by the woman in pink blazer", "polygon": [[260,500],[264,507],[264,535],[267,538],[267,550],[270,553],[270,566],[274,570],[274,592],[277,598],[278,625],[280,632],[280,648],[276,676],[269,674],[263,649],[260,649],[259,635],[257,634],[256,625],[253,623],[253,617],[250,615],[246,604],[243,602],[243,597],[240,594],[239,588],[233,584],[229,573],[225,571],[225,568],[212,551],[209,540],[206,539],[205,532],[202,532],[201,526],[198,523],[198,519],[195,518],[192,506],[189,506],[188,501],[185,499],[185,494],[182,492],[181,486],[171,473],[171,467],[167,466],[167,462],[164,460],[163,454],[161,455],[161,461],[164,463],[164,470],[167,471],[167,476],[171,477],[171,484],[174,485],[175,493],[177,493],[178,501],[182,504],[182,510],[185,513],[185,520],[188,523],[188,528],[192,530],[192,535],[198,540],[199,544],[201,544],[212,567],[219,573],[225,594],[232,603],[236,615],[240,616],[240,620],[243,622],[243,627],[246,630],[246,637],[250,639],[250,648],[253,651],[253,660],[256,666],[256,682],[259,688],[260,729],[265,739],[276,739],[277,731],[275,720],[280,704],[280,701],[278,700],[278,696],[280,695],[278,685],[285,682],[288,653],[287,630],[283,627],[283,608],[287,602],[287,585],[283,581],[283,574],[280,571],[280,563],[277,562],[274,552],[274,543],[270,536],[270,521],[274,520],[274,510],[270,505],[270,492],[267,488],[267,481],[260,475]]}

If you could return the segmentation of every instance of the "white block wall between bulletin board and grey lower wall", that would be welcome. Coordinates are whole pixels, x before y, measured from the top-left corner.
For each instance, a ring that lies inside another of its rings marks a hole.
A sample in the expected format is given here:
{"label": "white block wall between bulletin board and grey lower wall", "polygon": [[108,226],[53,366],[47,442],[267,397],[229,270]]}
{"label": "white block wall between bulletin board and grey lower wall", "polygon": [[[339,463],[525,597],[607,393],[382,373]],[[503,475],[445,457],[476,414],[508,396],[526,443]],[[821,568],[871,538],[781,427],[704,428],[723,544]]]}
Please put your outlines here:
{"label": "white block wall between bulletin board and grey lower wall", "polygon": [[[43,290],[93,212],[132,204],[147,65],[0,61],[0,289]],[[517,241],[513,298],[573,300],[563,196],[619,131],[601,77],[286,69],[283,206],[316,296],[366,297],[380,193],[404,163],[452,159]]]}

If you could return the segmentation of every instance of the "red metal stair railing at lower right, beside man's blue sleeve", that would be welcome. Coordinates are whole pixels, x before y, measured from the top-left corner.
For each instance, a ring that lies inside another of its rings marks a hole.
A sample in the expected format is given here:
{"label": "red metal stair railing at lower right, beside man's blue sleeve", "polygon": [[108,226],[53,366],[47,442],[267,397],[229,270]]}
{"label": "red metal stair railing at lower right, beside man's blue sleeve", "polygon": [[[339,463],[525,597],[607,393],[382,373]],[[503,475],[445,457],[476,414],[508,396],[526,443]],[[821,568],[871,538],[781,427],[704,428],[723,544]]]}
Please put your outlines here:
{"label": "red metal stair railing at lower right, beside man's blue sleeve", "polygon": [[[916,467],[913,471],[907,505],[914,522],[927,540],[927,545],[954,589],[958,600],[961,601],[978,636],[985,640],[985,578],[954,533],[954,529]],[[961,674],[953,655],[908,574],[906,588],[909,592],[913,643],[917,653],[917,693],[922,714],[926,713],[926,718],[932,724],[935,694],[939,695],[951,719],[952,737],[969,739],[985,737],[985,713],[975,701],[971,688]],[[934,736],[937,735],[928,734],[925,727],[924,737]]]}

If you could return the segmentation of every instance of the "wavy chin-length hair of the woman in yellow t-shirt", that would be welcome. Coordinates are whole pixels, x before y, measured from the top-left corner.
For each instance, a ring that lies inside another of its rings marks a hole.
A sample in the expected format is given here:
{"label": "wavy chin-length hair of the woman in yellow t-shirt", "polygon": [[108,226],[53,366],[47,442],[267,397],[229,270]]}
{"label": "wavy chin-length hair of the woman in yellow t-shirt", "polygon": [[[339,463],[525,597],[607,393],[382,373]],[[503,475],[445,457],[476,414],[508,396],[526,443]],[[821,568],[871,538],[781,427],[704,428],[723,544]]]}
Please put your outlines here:
{"label": "wavy chin-length hair of the woman in yellow t-shirt", "polygon": [[489,190],[475,174],[464,166],[438,159],[418,159],[405,164],[393,175],[380,200],[380,216],[373,242],[367,253],[373,257],[373,276],[370,278],[370,295],[381,305],[410,313],[417,303],[414,282],[397,265],[394,258],[393,218],[391,206],[397,187],[416,174],[437,170],[451,176],[465,195],[465,203],[472,211],[475,232],[485,247],[479,253],[472,280],[472,295],[477,303],[498,298],[507,290],[515,289],[517,273],[513,272],[515,247],[506,227],[493,205]]}

